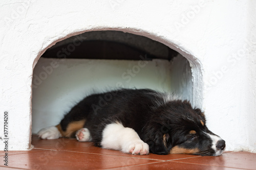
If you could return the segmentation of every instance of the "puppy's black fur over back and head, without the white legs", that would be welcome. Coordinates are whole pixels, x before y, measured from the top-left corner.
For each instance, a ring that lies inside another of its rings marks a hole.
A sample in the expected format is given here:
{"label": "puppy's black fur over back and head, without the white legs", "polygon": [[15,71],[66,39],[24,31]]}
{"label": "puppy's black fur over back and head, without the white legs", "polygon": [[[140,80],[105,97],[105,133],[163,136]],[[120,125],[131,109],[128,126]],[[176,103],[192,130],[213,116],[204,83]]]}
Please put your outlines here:
{"label": "puppy's black fur over back and head, without the white legs", "polygon": [[[188,101],[170,98],[167,93],[150,89],[92,94],[66,114],[58,129],[65,134],[70,124],[84,119],[79,129],[88,128],[92,141],[101,147],[104,128],[118,122],[134,129],[154,154],[220,155],[225,141],[207,129],[204,113],[191,107]],[[70,133],[63,136],[74,137],[76,132]],[[216,141],[216,149],[210,135],[220,139]]]}

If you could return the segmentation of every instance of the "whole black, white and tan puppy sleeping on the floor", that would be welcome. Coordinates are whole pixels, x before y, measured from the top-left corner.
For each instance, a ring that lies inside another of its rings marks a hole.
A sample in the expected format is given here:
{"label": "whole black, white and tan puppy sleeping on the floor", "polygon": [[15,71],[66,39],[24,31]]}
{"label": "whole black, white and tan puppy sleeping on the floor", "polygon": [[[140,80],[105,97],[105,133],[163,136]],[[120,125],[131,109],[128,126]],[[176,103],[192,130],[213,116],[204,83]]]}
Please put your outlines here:
{"label": "whole black, white and tan puppy sleeping on the floor", "polygon": [[84,98],[42,139],[76,137],[124,153],[221,155],[225,141],[189,102],[149,89],[121,89]]}

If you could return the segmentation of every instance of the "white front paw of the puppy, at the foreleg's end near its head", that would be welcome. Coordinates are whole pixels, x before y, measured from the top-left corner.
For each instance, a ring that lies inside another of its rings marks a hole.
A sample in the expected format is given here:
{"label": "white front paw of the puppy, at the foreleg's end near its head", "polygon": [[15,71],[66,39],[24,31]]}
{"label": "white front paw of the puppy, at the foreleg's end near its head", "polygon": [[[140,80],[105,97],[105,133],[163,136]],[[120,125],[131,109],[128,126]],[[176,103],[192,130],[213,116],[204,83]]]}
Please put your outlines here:
{"label": "white front paw of the puppy, at the foreleg's end near its head", "polygon": [[122,151],[133,155],[147,155],[150,153],[150,147],[142,140],[136,140],[128,142]]}

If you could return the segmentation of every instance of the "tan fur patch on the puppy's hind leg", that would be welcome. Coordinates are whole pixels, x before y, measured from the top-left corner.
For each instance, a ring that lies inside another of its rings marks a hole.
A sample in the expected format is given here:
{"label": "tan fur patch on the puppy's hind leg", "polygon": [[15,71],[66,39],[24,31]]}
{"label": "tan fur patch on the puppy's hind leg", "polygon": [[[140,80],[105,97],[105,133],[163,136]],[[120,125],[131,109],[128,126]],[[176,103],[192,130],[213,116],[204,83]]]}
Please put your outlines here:
{"label": "tan fur patch on the puppy's hind leg", "polygon": [[64,137],[71,137],[71,135],[75,132],[78,131],[79,129],[83,128],[84,123],[86,122],[85,119],[79,120],[79,121],[75,121],[75,122],[71,122],[66,131],[63,131],[61,129],[60,124],[56,126],[56,128],[58,128],[58,131],[60,132],[60,134]]}

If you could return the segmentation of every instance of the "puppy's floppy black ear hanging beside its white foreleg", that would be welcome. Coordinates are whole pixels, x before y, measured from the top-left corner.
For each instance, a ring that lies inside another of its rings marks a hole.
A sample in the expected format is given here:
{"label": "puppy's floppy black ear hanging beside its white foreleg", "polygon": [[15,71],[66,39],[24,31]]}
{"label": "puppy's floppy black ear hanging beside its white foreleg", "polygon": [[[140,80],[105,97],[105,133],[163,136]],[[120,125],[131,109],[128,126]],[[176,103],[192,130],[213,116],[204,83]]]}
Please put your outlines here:
{"label": "puppy's floppy black ear hanging beside its white foreleg", "polygon": [[150,152],[158,155],[167,155],[170,153],[172,148],[171,137],[169,130],[155,123],[155,126],[147,127],[150,129],[146,130],[145,142],[150,146]]}

